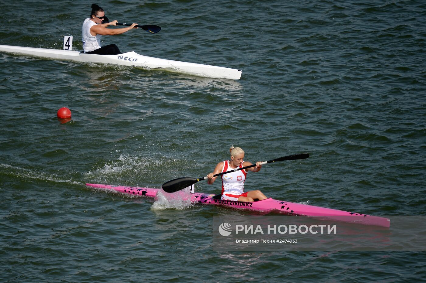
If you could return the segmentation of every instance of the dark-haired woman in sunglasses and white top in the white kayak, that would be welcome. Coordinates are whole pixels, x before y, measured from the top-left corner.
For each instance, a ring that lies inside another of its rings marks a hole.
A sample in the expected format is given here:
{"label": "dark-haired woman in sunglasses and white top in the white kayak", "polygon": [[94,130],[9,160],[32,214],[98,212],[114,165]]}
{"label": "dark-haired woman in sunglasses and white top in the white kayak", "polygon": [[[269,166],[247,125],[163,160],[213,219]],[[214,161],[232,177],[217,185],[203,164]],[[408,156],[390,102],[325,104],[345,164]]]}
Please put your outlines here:
{"label": "dark-haired woman in sunglasses and white top in the white kayak", "polygon": [[83,50],[84,53],[114,55],[120,54],[120,49],[117,45],[110,44],[101,46],[101,37],[103,35],[116,35],[130,31],[132,28],[137,28],[133,23],[130,27],[109,29],[107,26],[116,25],[117,20],[110,23],[103,23],[105,19],[104,10],[96,4],[92,4],[92,14],[83,22]]}

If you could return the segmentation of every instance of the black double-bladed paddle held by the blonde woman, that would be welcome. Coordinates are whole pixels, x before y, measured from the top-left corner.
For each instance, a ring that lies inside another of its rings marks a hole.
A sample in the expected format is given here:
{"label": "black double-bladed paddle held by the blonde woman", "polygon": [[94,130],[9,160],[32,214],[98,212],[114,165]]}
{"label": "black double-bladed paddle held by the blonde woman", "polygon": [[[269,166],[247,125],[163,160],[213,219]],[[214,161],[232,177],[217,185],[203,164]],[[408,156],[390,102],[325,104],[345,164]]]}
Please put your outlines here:
{"label": "black double-bladed paddle held by the blonde woman", "polygon": [[[268,164],[268,163],[272,163],[272,162],[276,162],[276,161],[285,161],[285,160],[297,160],[297,159],[305,159],[308,158],[309,154],[308,153],[300,153],[300,154],[294,154],[294,155],[289,155],[289,156],[283,156],[280,158],[276,158],[276,159],[272,159],[269,161],[263,161],[260,164]],[[220,176],[220,175],[224,175],[226,173],[231,173],[231,172],[235,172],[235,171],[239,171],[239,170],[243,170],[243,169],[247,169],[247,168],[251,168],[251,167],[256,167],[256,164],[252,164],[246,167],[242,167],[242,168],[236,168],[234,170],[229,170],[223,173],[218,173],[213,175],[214,177]],[[202,178],[190,178],[190,177],[183,177],[183,178],[177,178],[177,179],[173,179],[171,181],[165,182],[162,186],[164,192],[177,192],[179,190],[182,190],[186,187],[189,187],[193,184],[195,184],[198,181],[202,181],[207,179],[207,177],[202,177]]]}

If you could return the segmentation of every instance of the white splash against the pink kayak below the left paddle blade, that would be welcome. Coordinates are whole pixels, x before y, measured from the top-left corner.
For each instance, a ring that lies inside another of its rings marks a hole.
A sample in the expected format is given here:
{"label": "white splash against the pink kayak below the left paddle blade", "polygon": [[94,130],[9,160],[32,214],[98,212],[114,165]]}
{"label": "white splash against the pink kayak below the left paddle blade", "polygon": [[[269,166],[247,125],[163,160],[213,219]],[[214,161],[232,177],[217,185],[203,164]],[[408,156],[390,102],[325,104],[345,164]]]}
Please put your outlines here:
{"label": "white splash against the pink kayak below the left paddle blade", "polygon": [[191,188],[187,187],[178,192],[168,193],[163,190],[158,190],[155,195],[155,201],[151,209],[187,209],[192,207],[191,203]]}

